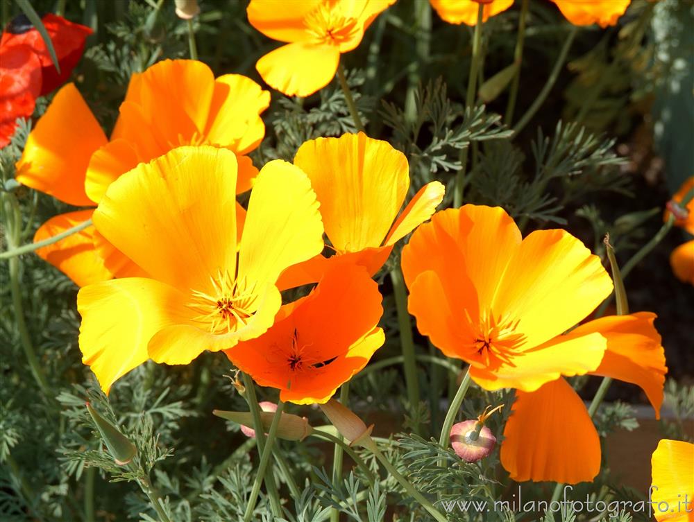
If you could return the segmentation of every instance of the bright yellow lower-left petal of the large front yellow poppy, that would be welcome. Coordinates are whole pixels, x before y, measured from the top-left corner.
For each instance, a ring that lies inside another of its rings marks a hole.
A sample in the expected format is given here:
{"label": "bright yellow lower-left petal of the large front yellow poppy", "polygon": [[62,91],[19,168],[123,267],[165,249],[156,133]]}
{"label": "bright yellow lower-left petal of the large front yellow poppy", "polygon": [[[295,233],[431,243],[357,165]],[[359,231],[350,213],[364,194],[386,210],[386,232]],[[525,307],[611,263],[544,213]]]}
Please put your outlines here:
{"label": "bright yellow lower-left petal of the large front yellow poppy", "polygon": [[186,296],[153,279],[114,279],[82,288],[80,349],[101,389],[111,385],[149,356],[147,343],[158,330],[184,321]]}

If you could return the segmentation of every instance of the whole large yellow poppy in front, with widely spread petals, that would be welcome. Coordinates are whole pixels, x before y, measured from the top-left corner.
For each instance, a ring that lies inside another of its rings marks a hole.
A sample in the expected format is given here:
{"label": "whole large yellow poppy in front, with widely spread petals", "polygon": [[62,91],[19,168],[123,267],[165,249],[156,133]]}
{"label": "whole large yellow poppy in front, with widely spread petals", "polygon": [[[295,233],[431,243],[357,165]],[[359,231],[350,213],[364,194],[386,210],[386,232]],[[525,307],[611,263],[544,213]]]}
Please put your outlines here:
{"label": "whole large yellow poppy in front, with widely spread petals", "polygon": [[257,176],[237,245],[237,158],[184,146],[109,186],[94,225],[148,277],[85,286],[83,362],[108,392],[152,358],[187,364],[260,336],[281,305],[280,272],[323,248],[316,195],[301,170],[269,162]]}

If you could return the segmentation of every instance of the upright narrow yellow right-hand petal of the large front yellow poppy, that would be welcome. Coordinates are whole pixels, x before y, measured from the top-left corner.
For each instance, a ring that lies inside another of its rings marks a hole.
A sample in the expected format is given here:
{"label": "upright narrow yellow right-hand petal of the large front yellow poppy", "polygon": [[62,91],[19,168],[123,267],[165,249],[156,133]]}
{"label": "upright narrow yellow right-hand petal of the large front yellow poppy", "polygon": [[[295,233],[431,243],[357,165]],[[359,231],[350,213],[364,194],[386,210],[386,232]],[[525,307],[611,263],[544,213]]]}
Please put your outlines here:
{"label": "upright narrow yellow right-hand petal of the large front yellow poppy", "polygon": [[239,247],[239,279],[275,284],[285,268],[323,250],[316,194],[300,168],[276,159],[258,174]]}

